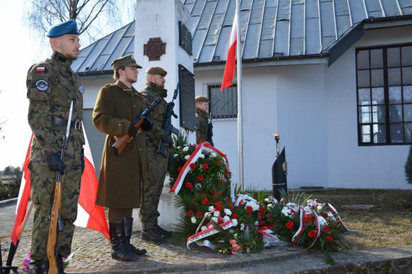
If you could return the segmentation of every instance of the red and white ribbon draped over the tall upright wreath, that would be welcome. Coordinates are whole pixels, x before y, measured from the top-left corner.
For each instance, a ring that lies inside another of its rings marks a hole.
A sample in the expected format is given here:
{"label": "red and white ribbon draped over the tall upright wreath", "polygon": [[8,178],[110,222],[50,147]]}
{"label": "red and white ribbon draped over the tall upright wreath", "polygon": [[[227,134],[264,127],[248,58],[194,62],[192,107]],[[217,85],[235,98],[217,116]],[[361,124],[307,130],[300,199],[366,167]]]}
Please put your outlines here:
{"label": "red and white ribbon draped over the tall upright wreath", "polygon": [[210,151],[214,151],[218,153],[218,155],[222,156],[222,158],[225,159],[227,166],[229,166],[229,162],[227,161],[226,155],[222,153],[222,151],[216,149],[215,147],[212,147],[209,144],[209,142],[206,142],[206,141],[201,142],[196,147],[196,149],[194,149],[192,155],[190,155],[190,157],[187,159],[185,164],[183,164],[183,167],[181,171],[179,172],[179,175],[177,176],[176,182],[174,182],[172,188],[170,188],[170,192],[174,192],[174,195],[177,195],[179,191],[181,190],[181,187],[183,186],[183,181],[185,180],[187,173],[190,171],[190,164],[198,160],[203,150],[210,150]]}

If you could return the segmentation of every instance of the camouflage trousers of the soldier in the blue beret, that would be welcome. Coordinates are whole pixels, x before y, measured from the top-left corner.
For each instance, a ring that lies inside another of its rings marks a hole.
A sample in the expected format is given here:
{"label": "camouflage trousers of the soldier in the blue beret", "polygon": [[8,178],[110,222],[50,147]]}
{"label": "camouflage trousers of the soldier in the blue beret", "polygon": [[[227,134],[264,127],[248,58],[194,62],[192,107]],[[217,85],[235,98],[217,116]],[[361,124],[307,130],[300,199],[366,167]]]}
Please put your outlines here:
{"label": "camouflage trousers of the soldier in the blue beret", "polygon": [[[56,252],[69,256],[74,233],[74,221],[77,216],[77,203],[80,192],[80,157],[65,157],[67,166],[62,182],[62,206],[60,219],[63,229],[57,234]],[[34,203],[34,221],[32,232],[32,260],[47,260],[47,238],[49,235],[51,201],[54,195],[56,173],[49,171],[46,159],[38,148],[32,148],[30,154],[31,197]]]}

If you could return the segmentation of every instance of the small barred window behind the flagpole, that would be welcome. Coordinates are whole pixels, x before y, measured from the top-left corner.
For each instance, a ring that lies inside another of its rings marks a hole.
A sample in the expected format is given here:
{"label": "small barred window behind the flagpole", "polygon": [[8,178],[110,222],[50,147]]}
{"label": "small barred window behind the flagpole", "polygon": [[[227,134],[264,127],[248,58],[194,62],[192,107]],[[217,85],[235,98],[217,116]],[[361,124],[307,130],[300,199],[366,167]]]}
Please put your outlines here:
{"label": "small barred window behind the flagpole", "polygon": [[236,84],[220,92],[221,84],[207,86],[211,119],[238,117],[238,93]]}

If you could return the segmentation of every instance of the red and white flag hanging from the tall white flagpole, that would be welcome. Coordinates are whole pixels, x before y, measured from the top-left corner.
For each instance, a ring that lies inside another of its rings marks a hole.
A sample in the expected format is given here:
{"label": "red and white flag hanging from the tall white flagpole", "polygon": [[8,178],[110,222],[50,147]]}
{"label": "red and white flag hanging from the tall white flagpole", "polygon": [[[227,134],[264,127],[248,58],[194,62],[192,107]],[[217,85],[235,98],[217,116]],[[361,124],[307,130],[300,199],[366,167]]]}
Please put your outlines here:
{"label": "red and white flag hanging from the tall white flagpole", "polygon": [[222,87],[220,91],[233,84],[236,66],[236,45],[238,44],[238,10],[233,18],[232,31],[230,34],[229,49],[227,50],[225,73],[223,74]]}

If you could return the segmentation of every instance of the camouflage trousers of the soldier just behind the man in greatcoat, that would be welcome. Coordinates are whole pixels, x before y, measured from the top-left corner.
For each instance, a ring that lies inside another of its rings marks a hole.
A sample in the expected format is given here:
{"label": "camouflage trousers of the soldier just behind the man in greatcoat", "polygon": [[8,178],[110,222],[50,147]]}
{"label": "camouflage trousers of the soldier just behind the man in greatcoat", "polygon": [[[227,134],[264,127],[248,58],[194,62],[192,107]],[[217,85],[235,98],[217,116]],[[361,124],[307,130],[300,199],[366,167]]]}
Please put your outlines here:
{"label": "camouflage trousers of the soldier just behind the man in greatcoat", "polygon": [[153,145],[146,146],[148,153],[148,169],[146,182],[143,186],[143,199],[140,207],[140,221],[142,229],[150,229],[157,224],[160,212],[157,210],[160,201],[161,190],[165,184],[168,171],[168,158],[164,158],[157,152]]}

